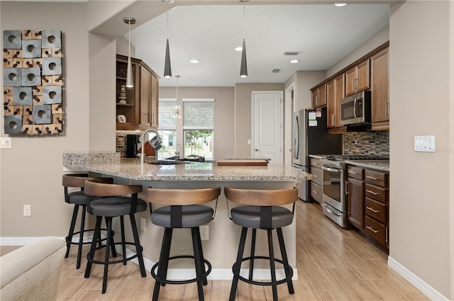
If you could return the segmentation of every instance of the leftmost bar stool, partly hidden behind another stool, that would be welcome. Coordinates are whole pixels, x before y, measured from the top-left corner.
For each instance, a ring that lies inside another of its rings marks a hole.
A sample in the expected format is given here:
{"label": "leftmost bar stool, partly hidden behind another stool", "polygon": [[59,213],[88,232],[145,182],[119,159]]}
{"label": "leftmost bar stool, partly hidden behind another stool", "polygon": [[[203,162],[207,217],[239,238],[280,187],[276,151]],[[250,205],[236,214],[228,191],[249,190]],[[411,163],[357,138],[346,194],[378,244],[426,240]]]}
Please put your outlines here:
{"label": "leftmost bar stool, partly hidden behind another stool", "polygon": [[[87,232],[94,232],[94,229],[84,229],[85,228],[85,213],[87,212],[87,205],[89,203],[89,198],[87,195],[84,194],[84,185],[85,180],[87,180],[88,174],[65,174],[62,177],[62,185],[65,188],[65,202],[68,204],[74,205],[74,210],[72,211],[72,219],[70,225],[70,232],[68,233],[66,240],[66,254],[65,258],[68,258],[70,254],[70,248],[72,244],[77,244],[77,263],[76,268],[80,268],[80,261],[82,257],[82,246],[84,244],[91,244],[92,242],[84,242],[84,234]],[[102,178],[104,183],[113,183],[112,178]],[[80,191],[74,191],[72,193],[68,193],[68,188],[80,188]],[[82,217],[80,220],[80,229],[77,232],[74,232],[74,228],[77,221],[77,215],[79,213],[79,206],[82,206]],[[106,229],[101,229],[106,231]],[[72,242],[72,238],[74,235],[79,234],[79,242]],[[101,241],[106,239],[100,239],[99,245],[101,246]]]}

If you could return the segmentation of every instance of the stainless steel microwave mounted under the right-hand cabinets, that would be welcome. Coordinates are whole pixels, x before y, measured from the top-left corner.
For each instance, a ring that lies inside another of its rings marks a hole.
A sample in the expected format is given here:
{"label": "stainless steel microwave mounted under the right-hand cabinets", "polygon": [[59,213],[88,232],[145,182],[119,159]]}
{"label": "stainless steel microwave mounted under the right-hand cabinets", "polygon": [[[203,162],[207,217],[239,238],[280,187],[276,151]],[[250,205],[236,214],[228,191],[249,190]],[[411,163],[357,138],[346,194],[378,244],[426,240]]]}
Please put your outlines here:
{"label": "stainless steel microwave mounted under the right-hand cabinets", "polygon": [[362,91],[341,100],[341,125],[370,123],[370,91]]}

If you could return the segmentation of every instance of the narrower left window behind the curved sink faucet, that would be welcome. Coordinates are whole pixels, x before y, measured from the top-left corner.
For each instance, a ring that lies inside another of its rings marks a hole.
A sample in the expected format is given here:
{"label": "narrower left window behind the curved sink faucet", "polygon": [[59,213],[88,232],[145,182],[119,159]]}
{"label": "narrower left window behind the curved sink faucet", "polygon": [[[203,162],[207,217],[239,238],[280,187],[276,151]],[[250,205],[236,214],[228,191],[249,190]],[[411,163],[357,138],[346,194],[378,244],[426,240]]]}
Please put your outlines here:
{"label": "narrower left window behind the curved sink faucet", "polygon": [[162,148],[157,152],[158,159],[175,156],[177,147],[177,100],[175,98],[160,98],[159,100],[159,133]]}

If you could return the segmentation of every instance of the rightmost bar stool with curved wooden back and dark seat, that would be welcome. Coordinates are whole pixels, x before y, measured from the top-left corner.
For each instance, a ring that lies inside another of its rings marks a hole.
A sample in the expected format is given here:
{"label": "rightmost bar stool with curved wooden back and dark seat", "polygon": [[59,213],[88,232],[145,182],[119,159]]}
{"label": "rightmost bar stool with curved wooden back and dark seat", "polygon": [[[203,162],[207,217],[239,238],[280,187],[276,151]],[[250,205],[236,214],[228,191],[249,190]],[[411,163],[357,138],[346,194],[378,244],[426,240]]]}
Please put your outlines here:
{"label": "rightmost bar stool with curved wooden back and dark seat", "polygon": [[[251,189],[236,189],[224,188],[224,194],[228,200],[234,203],[241,204],[238,207],[232,208],[229,218],[236,224],[242,227],[240,244],[238,246],[238,256],[236,263],[233,264],[233,281],[230,292],[230,301],[235,300],[236,290],[238,288],[238,280],[254,285],[271,285],[272,299],[277,301],[277,285],[287,283],[289,293],[294,293],[292,276],[293,269],[289,266],[287,259],[287,251],[285,250],[284,237],[282,235],[282,227],[288,226],[293,222],[295,202],[298,200],[298,190],[251,190]],[[282,205],[293,203],[293,209],[290,211]],[[253,229],[251,242],[251,252],[249,257],[243,258],[246,235],[248,229]],[[255,256],[255,235],[257,229],[265,229],[268,237],[269,256]],[[282,255],[281,259],[276,259],[273,250],[272,229],[277,231],[277,239]],[[255,259],[267,259],[270,261],[271,281],[258,282],[253,280],[253,268]],[[241,263],[250,261],[249,278],[240,276]],[[275,263],[280,263],[284,266],[285,278],[276,280]]]}

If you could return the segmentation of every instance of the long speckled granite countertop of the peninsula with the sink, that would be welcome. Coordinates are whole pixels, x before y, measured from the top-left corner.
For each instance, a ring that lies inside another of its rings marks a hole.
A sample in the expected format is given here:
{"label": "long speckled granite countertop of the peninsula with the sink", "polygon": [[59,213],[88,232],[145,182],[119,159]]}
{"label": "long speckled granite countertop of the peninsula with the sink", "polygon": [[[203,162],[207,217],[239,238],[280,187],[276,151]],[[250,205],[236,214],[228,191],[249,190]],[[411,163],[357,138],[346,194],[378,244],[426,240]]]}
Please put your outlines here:
{"label": "long speckled granite countertop of the peninsula with the sink", "polygon": [[[146,159],[145,161],[150,161]],[[139,159],[121,159],[118,153],[67,153],[63,166],[133,180],[154,181],[298,181],[311,174],[283,164],[268,166],[217,166],[216,162],[175,165],[140,164]]]}

